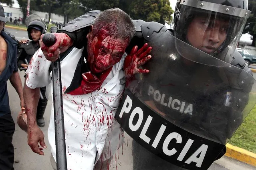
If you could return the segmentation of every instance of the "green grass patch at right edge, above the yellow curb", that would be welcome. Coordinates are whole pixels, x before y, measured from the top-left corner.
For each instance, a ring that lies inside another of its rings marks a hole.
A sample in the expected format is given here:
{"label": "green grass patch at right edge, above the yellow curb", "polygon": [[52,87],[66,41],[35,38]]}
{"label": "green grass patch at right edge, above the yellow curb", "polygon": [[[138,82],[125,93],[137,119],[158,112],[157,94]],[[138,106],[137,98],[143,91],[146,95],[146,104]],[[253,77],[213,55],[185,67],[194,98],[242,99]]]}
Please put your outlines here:
{"label": "green grass patch at right edge, above the yellow curb", "polygon": [[229,143],[256,153],[256,107],[252,109]]}

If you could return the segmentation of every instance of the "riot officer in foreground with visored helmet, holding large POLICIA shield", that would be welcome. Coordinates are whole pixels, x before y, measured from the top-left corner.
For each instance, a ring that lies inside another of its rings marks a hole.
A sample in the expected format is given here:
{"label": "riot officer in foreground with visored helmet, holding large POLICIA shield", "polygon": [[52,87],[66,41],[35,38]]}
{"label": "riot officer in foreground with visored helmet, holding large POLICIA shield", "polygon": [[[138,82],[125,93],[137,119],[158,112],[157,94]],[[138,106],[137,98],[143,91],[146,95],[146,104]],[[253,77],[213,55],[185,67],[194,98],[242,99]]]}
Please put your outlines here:
{"label": "riot officer in foreground with visored helmet, holding large POLICIA shield", "polygon": [[[254,78],[235,51],[247,9],[247,0],[177,0],[174,30],[133,20],[136,36],[127,53],[148,43],[152,60],[144,67],[149,74],[129,80],[115,116],[128,134],[124,158],[120,151],[113,159],[117,168],[207,169],[224,155],[255,104],[248,97]],[[59,32],[81,48],[86,27],[79,19]]]}

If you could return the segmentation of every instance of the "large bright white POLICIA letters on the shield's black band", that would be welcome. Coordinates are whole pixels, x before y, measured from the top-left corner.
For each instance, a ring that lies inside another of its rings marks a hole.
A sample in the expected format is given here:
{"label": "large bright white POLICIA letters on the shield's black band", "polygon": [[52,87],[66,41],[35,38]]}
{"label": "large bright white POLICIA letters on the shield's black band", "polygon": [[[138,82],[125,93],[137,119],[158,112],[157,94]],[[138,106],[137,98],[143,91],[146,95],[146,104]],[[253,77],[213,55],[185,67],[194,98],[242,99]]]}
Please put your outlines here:
{"label": "large bright white POLICIA letters on the shield's black band", "polygon": [[[158,92],[157,92],[158,93]],[[159,100],[160,101],[160,100]],[[175,102],[178,102],[177,99]],[[128,114],[130,113],[130,118],[129,118],[129,128],[130,130],[132,130],[133,132],[137,131],[141,126],[143,126],[141,133],[139,135],[139,137],[144,140],[145,142],[147,142],[147,144],[149,144],[151,138],[149,138],[148,136],[146,136],[146,132],[151,124],[151,121],[153,120],[153,117],[151,117],[150,115],[148,115],[147,120],[145,122],[145,124],[143,125],[143,117],[144,117],[144,113],[143,110],[140,107],[135,107],[133,109],[133,111],[131,111],[131,107],[133,105],[133,101],[131,100],[131,98],[127,95],[125,102],[123,104],[123,107],[121,109],[121,112],[119,114],[119,117],[122,118],[123,114]],[[181,104],[182,107],[182,104]],[[139,119],[137,120],[137,122],[135,123],[135,125],[133,124],[133,119],[135,117],[135,115],[139,116]],[[159,141],[161,140],[163,133],[166,130],[166,126],[165,125],[161,125],[161,127],[159,128],[153,143],[152,143],[152,147],[153,148],[157,148]],[[189,148],[192,146],[194,140],[192,139],[188,139],[185,146],[182,148],[182,150],[176,150],[175,147],[173,148],[168,148],[169,143],[171,142],[171,140],[175,140],[177,144],[181,144],[182,142],[182,136],[178,133],[178,132],[171,132],[168,136],[166,136],[166,138],[164,139],[163,142],[163,146],[161,146],[163,153],[166,154],[167,156],[172,156],[176,153],[179,153],[179,156],[177,157],[177,160],[179,161],[185,161],[186,164],[190,164],[191,162],[196,162],[196,166],[197,167],[201,167],[202,162],[204,161],[204,157],[206,155],[206,151],[208,149],[208,145],[206,144],[202,144],[200,146],[200,148],[198,148],[187,160],[183,160],[183,158],[185,157],[185,155],[187,154]],[[194,146],[192,146],[193,148]],[[200,155],[200,156],[198,156]]]}

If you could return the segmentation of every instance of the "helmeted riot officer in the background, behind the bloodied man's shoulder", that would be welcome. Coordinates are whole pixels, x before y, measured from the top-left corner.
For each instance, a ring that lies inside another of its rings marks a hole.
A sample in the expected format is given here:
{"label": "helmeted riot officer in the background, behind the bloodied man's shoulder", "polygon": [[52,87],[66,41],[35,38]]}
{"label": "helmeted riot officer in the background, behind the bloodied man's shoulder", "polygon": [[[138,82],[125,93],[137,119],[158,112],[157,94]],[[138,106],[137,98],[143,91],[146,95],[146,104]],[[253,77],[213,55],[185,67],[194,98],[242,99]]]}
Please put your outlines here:
{"label": "helmeted riot officer in the background, behind the bloodied man's shoulder", "polygon": [[[40,36],[45,33],[45,25],[41,21],[34,20],[29,23],[28,38],[32,41],[21,40],[18,47],[18,67],[20,70],[26,70],[30,59],[34,53],[40,48],[39,40]],[[44,127],[44,111],[47,105],[47,99],[45,96],[46,87],[40,88],[40,99],[38,102],[36,122],[38,126]]]}

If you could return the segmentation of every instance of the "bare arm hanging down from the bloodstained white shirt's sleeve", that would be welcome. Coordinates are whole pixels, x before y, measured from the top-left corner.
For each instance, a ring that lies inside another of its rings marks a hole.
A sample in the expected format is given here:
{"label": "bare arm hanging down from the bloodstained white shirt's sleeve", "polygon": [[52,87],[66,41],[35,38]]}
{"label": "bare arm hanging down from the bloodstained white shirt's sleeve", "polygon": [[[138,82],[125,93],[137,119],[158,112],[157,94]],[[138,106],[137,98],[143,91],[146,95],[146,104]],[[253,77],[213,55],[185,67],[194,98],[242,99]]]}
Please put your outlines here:
{"label": "bare arm hanging down from the bloodstained white shirt's sleeve", "polygon": [[26,105],[26,114],[27,114],[27,125],[28,125],[28,145],[33,152],[44,155],[42,148],[38,147],[38,142],[43,148],[46,148],[44,143],[44,134],[42,130],[36,124],[36,109],[40,97],[40,88],[30,89],[26,85],[26,75],[23,93],[24,101]]}

